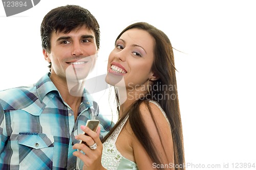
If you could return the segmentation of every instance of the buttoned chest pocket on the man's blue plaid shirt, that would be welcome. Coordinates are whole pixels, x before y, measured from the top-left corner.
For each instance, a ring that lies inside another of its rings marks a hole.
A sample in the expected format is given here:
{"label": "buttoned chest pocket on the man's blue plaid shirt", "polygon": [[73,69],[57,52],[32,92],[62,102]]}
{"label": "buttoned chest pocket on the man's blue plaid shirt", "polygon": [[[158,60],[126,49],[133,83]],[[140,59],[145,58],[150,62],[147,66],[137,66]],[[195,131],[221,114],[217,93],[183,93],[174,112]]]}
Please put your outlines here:
{"label": "buttoned chest pocket on the man's blue plaid shirt", "polygon": [[21,169],[52,169],[53,136],[44,133],[18,134],[19,167]]}

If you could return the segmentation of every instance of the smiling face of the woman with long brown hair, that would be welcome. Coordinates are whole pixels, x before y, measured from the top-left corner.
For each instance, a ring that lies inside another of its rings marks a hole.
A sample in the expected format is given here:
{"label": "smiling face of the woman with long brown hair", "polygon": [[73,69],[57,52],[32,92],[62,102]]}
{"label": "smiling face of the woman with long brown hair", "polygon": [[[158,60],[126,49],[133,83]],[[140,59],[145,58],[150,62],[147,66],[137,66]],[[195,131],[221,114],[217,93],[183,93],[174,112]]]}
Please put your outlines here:
{"label": "smiling face of the woman with long brown hair", "polygon": [[110,53],[105,81],[126,89],[146,85],[154,78],[151,67],[154,60],[154,38],[144,30],[131,29],[116,41]]}

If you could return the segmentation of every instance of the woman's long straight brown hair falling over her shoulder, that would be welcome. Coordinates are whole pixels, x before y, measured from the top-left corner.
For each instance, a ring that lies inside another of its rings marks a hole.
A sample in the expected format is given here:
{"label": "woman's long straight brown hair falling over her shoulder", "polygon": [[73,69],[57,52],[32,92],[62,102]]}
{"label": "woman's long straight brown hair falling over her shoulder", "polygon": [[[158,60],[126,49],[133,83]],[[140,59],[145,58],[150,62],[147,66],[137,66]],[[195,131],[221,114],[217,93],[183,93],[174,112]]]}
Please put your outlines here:
{"label": "woman's long straight brown hair falling over her shoulder", "polygon": [[[143,103],[147,109],[150,111],[150,114],[155,122],[155,117],[150,108],[148,100],[156,101],[160,104],[170,123],[170,129],[173,137],[173,145],[174,145],[174,163],[175,169],[183,170],[185,169],[185,159],[184,159],[184,148],[183,148],[183,134],[182,134],[182,125],[181,125],[181,116],[179,109],[179,100],[178,100],[178,92],[177,92],[177,82],[176,82],[176,68],[174,64],[174,53],[173,47],[170,43],[169,38],[164,34],[161,30],[155,28],[154,26],[146,23],[146,22],[137,22],[132,25],[126,27],[117,37],[119,37],[127,30],[130,29],[142,29],[147,31],[154,39],[154,61],[151,70],[155,75],[159,77],[158,80],[154,81],[154,88],[150,88],[150,94],[146,94],[143,99],[139,99],[135,101],[124,113],[122,117],[119,117],[117,124],[112,128],[110,133],[106,135],[102,142],[104,142],[118,127],[118,125],[122,122],[123,118],[129,114],[129,122],[131,124],[131,128],[140,141],[140,143],[144,146],[147,154],[151,157],[151,160],[159,165],[164,164],[161,161],[161,158],[157,154],[157,149],[155,148],[152,139],[146,129],[145,123],[141,117],[140,113],[140,105]],[[116,40],[117,40],[116,39]],[[156,88],[157,86],[157,88]],[[116,101],[119,104],[118,94],[115,88]],[[119,112],[119,108],[117,109]],[[159,133],[159,131],[158,131]],[[159,135],[160,136],[160,135]],[[161,136],[160,136],[161,139]],[[164,146],[163,146],[164,147]],[[169,151],[165,151],[166,153]],[[165,153],[165,154],[166,154]],[[157,168],[164,169],[164,168]]]}

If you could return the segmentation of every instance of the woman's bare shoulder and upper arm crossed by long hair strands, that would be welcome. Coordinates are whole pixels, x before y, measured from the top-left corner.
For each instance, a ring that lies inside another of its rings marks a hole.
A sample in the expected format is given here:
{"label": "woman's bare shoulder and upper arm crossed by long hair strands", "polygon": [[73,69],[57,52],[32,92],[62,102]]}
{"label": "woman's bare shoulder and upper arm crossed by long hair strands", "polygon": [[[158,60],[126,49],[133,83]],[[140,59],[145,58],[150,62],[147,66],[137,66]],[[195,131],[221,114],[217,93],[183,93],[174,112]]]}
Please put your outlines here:
{"label": "woman's bare shoulder and upper arm crossed by long hair strands", "polygon": [[137,138],[132,143],[135,161],[139,169],[156,169],[159,166],[164,166],[164,169],[174,169],[172,167],[174,165],[173,139],[169,124],[158,106],[151,102],[149,104],[156,125],[150,111],[143,103],[140,105],[140,113],[162,163],[159,165],[153,162]]}

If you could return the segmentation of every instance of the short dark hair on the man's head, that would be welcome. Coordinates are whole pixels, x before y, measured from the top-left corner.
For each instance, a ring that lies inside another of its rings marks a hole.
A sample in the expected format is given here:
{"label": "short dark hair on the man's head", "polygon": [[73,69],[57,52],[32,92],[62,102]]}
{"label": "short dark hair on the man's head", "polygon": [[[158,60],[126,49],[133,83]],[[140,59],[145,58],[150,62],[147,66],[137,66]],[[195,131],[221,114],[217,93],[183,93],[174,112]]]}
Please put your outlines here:
{"label": "short dark hair on the man's head", "polygon": [[96,45],[100,46],[99,24],[90,11],[76,5],[67,5],[52,9],[41,23],[42,48],[51,52],[50,37],[53,31],[69,33],[83,25],[95,33]]}

